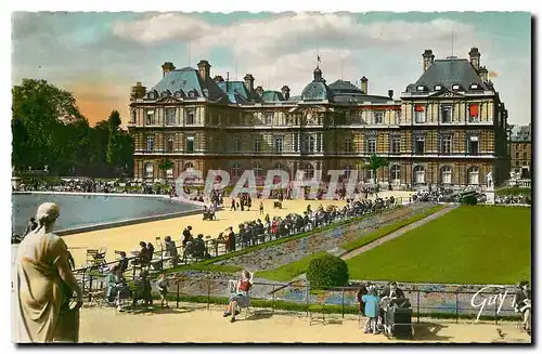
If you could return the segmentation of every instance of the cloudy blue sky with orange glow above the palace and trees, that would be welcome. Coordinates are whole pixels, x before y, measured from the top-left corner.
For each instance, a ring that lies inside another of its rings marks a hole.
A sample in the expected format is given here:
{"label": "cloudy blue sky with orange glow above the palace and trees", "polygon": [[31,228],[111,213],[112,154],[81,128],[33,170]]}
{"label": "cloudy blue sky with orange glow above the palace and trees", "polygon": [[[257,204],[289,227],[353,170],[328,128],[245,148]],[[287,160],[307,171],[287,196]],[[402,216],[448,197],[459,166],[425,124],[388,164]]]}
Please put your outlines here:
{"label": "cloudy blue sky with orange glow above the palace and trees", "polygon": [[[91,124],[113,109],[128,120],[130,87],[162,78],[162,64],[211,65],[211,77],[300,94],[317,65],[328,83],[343,78],[369,93],[399,97],[422,75],[422,53],[468,57],[472,47],[508,108],[531,121],[531,17],[526,12],[181,13],[15,12],[12,83],[46,79],[72,91]],[[453,51],[453,52],[452,52]]]}

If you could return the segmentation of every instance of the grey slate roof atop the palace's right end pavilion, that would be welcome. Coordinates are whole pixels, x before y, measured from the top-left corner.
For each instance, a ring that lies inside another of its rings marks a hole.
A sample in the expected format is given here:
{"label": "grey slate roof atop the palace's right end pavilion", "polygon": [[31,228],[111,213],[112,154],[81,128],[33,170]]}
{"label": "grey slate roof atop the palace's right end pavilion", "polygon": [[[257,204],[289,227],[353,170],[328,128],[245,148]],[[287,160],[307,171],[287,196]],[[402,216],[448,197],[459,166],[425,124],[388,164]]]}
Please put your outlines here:
{"label": "grey slate roof atop the palace's right end pavilion", "polygon": [[453,84],[461,84],[463,90],[469,90],[472,83],[479,84],[483,90],[491,90],[491,86],[481,81],[467,60],[437,60],[414,84],[406,87],[406,92],[416,92],[417,86],[425,86],[427,90],[434,91],[437,84],[447,90],[452,90]]}

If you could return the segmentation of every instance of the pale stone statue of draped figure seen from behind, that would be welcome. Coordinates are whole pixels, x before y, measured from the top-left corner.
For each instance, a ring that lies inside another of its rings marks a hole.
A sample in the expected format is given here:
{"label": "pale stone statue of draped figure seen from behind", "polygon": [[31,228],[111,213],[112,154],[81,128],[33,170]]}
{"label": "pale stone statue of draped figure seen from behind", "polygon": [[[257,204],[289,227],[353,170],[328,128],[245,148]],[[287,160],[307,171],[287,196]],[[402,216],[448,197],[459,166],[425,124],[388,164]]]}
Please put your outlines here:
{"label": "pale stone statue of draped figure seen from behind", "polygon": [[[77,342],[82,291],[69,266],[64,240],[52,233],[59,206],[39,206],[38,227],[18,245],[14,335],[18,343]],[[77,305],[69,307],[73,293]]]}

